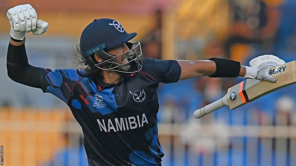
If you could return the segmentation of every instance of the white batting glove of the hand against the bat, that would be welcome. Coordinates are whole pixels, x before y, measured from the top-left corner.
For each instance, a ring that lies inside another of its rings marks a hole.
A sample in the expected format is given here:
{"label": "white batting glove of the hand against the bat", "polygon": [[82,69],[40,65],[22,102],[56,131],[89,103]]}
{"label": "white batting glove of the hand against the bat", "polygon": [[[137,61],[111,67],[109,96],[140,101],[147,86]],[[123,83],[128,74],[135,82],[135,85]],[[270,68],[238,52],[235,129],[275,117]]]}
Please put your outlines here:
{"label": "white batting glove of the hand against the bat", "polygon": [[284,60],[274,55],[258,56],[250,61],[251,67],[244,66],[246,68],[246,74],[243,78],[276,82],[276,79],[269,74],[270,68],[284,63],[286,63]]}

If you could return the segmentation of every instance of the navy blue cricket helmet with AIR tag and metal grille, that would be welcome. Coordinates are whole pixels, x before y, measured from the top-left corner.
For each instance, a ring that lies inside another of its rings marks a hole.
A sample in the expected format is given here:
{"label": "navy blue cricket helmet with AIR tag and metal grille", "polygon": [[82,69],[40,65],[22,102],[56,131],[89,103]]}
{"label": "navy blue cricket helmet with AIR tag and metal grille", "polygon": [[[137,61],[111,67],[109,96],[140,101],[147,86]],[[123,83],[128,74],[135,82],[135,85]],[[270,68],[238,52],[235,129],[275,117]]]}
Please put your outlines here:
{"label": "navy blue cricket helmet with AIR tag and metal grille", "polygon": [[[106,53],[106,51],[127,43],[128,47],[130,48],[130,51],[128,51],[128,61],[137,61],[139,65],[139,57],[142,55],[141,45],[139,42],[128,43],[128,41],[134,38],[136,35],[137,33],[135,32],[127,33],[123,29],[123,26],[114,19],[95,19],[84,28],[81,34],[80,49],[82,56],[86,60],[86,64],[88,64],[90,67],[96,66],[103,70],[120,71],[118,67],[124,64],[115,63],[114,60],[116,57],[122,56],[126,53],[120,55],[110,55]],[[136,46],[134,47],[134,45]],[[139,48],[139,51],[135,50],[137,47]],[[95,53],[104,61],[98,63],[94,59],[91,59],[91,56]],[[106,67],[107,62],[111,64],[107,65]],[[139,70],[140,69],[137,71]]]}

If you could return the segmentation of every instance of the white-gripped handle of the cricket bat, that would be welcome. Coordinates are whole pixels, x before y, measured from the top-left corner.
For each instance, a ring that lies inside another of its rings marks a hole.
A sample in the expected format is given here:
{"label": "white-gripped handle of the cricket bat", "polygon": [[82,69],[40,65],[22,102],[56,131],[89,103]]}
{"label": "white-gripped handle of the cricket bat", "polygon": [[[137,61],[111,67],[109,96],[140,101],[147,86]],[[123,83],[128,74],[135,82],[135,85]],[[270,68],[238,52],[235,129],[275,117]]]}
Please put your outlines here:
{"label": "white-gripped handle of the cricket bat", "polygon": [[227,100],[226,100],[226,96],[227,96],[227,94],[224,97],[222,97],[221,99],[219,99],[215,102],[212,102],[209,105],[204,106],[203,108],[195,110],[193,113],[194,118],[199,119],[199,118],[207,115],[208,113],[211,113],[215,110],[218,110],[219,108],[222,108],[222,107],[228,105]]}

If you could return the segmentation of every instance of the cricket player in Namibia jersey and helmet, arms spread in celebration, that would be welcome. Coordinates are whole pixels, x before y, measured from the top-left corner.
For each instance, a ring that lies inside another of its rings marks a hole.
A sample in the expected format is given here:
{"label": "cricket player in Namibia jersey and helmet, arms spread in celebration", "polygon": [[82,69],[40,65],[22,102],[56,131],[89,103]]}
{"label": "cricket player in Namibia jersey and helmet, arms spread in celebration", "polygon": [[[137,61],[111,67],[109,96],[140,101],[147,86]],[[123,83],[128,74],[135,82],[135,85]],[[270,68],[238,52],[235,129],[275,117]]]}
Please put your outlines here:
{"label": "cricket player in Namibia jersey and helmet, arms spread in celebration", "polygon": [[[28,64],[25,34],[46,32],[35,9],[18,5],[8,10],[11,24],[7,73],[9,78],[42,89],[63,100],[81,125],[90,166],[161,165],[156,89],[198,76],[276,80],[271,66],[284,63],[272,55],[259,56],[251,66],[229,59],[175,61],[141,59],[137,34],[127,33],[114,19],[95,19],[81,34],[78,52],[85,69],[44,69]],[[67,28],[67,26],[65,26]]]}

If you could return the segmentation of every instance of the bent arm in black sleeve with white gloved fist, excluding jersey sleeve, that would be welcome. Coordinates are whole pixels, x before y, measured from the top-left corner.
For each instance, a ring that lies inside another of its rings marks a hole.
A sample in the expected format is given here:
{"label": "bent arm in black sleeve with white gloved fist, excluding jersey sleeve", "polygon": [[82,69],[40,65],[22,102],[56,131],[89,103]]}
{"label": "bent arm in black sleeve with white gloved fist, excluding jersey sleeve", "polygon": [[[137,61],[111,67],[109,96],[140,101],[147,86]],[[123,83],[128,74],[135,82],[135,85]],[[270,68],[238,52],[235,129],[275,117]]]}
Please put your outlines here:
{"label": "bent arm in black sleeve with white gloved fist, excluding jersey sleeve", "polygon": [[7,74],[15,82],[41,88],[40,76],[46,70],[31,66],[25,49],[25,34],[40,35],[46,32],[47,22],[37,20],[35,9],[30,4],[18,5],[7,11],[11,39],[7,51]]}

